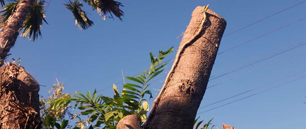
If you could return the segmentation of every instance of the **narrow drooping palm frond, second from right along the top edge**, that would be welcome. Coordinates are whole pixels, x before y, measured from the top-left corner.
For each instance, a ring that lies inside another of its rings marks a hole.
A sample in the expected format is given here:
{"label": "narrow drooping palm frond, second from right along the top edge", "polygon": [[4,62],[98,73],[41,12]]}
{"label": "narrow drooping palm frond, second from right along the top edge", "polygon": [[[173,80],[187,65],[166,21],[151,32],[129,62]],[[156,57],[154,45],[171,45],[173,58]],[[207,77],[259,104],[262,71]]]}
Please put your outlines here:
{"label": "narrow drooping palm frond, second from right along the top edge", "polygon": [[83,4],[78,2],[78,0],[70,1],[67,4],[64,4],[67,9],[69,9],[74,16],[75,26],[78,25],[80,29],[87,29],[93,25],[93,22],[88,19],[86,12],[84,12],[81,7]]}

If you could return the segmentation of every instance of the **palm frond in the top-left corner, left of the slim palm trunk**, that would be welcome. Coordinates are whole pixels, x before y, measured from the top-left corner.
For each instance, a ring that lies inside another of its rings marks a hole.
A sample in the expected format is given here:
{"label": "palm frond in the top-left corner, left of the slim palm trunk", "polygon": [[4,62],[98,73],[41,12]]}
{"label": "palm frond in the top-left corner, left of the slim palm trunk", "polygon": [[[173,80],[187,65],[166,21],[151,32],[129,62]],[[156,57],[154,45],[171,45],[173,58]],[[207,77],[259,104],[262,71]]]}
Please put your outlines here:
{"label": "palm frond in the top-left corner, left of the slim palm trunk", "polygon": [[[2,4],[2,1],[0,1]],[[5,5],[3,9],[0,10],[0,26],[4,26],[7,19],[13,14],[13,12],[16,10],[17,1],[13,3],[8,3]]]}

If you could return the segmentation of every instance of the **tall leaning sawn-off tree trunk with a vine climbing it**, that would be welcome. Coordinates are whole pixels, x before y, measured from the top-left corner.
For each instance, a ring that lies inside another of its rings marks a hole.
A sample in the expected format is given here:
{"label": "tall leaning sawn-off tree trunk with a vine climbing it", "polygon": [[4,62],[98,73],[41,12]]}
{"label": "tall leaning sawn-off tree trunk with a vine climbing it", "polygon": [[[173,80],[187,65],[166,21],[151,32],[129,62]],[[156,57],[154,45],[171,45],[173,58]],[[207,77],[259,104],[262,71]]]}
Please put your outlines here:
{"label": "tall leaning sawn-off tree trunk with a vine climbing it", "polygon": [[[203,7],[196,7],[185,31],[179,50],[190,40],[203,19]],[[166,83],[155,111],[145,128],[192,129],[197,110],[203,99],[211,69],[214,65],[226,21],[211,10],[206,12],[203,30],[185,48]],[[180,54],[179,52],[177,54]],[[177,60],[177,59],[176,59]],[[153,109],[153,108],[152,108]]]}

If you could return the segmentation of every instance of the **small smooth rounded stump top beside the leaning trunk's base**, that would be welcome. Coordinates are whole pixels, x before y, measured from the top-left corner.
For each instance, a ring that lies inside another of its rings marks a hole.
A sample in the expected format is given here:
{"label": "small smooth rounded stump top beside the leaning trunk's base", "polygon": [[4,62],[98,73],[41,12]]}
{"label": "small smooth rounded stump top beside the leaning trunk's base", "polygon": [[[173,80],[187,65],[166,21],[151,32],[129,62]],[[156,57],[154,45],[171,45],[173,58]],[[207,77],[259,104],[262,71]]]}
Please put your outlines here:
{"label": "small smooth rounded stump top beside the leaning trunk's base", "polygon": [[141,118],[137,115],[127,115],[117,124],[117,129],[140,129]]}

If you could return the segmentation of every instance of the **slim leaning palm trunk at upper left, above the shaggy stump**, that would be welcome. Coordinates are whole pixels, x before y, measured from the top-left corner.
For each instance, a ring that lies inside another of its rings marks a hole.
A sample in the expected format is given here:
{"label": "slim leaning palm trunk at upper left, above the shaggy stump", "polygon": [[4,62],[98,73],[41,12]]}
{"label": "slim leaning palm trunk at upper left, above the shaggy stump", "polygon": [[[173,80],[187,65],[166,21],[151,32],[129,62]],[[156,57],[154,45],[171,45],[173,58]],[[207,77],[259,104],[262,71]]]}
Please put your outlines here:
{"label": "slim leaning palm trunk at upper left, above the shaggy stump", "polygon": [[19,35],[18,31],[24,23],[34,0],[19,0],[16,11],[7,20],[0,32],[0,66],[4,65],[4,60],[8,56],[9,50],[14,46]]}

